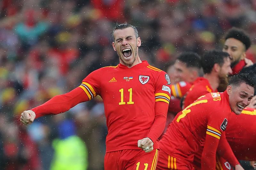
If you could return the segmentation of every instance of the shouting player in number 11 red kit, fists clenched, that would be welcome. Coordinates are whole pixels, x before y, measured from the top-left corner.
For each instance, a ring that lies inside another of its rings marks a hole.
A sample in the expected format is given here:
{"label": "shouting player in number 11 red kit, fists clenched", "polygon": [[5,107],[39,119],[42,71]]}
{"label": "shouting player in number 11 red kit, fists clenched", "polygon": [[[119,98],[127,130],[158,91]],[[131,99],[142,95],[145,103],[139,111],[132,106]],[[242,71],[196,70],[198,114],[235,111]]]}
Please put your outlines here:
{"label": "shouting player in number 11 red kit, fists clenched", "polygon": [[157,138],[164,130],[171,95],[170,78],[140,60],[141,40],[134,26],[116,25],[113,40],[120,61],[117,66],[93,71],[74,90],[21,113],[20,121],[30,124],[35,118],[63,113],[100,95],[108,127],[104,168],[155,169]]}

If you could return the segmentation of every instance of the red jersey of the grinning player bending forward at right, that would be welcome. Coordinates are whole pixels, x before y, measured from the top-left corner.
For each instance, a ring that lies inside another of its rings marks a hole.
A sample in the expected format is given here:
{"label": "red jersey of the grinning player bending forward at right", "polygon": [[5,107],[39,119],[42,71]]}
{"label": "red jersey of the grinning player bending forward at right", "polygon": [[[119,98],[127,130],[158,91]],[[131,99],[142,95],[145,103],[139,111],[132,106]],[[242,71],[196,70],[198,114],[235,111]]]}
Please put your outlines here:
{"label": "red jersey of the grinning player bending forward at right", "polygon": [[208,93],[198,98],[179,112],[170,123],[163,138],[159,141],[161,149],[159,158],[164,152],[175,159],[182,160],[184,164],[192,165],[194,154],[199,151],[200,146],[204,146],[207,150],[204,149],[203,155],[207,153],[212,153],[212,155],[208,158],[210,159],[208,163],[204,162],[207,159],[202,159],[202,165],[214,168],[217,146],[230,115],[231,108],[226,91]]}

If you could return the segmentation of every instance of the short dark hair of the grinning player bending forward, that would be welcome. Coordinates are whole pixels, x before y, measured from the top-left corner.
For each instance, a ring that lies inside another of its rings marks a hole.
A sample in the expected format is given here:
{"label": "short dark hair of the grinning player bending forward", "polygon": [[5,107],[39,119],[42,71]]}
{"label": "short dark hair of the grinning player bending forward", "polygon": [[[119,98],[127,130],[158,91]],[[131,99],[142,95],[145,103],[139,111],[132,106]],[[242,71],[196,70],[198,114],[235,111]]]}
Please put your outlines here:
{"label": "short dark hair of the grinning player bending forward", "polygon": [[235,76],[232,76],[228,82],[228,85],[240,85],[241,83],[245,83],[246,85],[250,85],[253,88],[255,88],[254,81],[252,80],[252,77],[249,76],[249,74],[245,73],[239,73]]}

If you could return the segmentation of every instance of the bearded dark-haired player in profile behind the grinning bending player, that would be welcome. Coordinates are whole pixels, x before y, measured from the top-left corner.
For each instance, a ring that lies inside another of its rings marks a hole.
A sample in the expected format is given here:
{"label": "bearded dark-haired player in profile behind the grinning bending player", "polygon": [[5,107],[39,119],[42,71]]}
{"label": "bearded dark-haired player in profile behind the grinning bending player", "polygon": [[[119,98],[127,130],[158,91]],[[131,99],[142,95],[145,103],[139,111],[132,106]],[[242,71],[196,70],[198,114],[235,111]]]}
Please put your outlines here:
{"label": "bearded dark-haired player in profile behind the grinning bending player", "polygon": [[229,55],[218,50],[206,51],[201,59],[204,77],[198,77],[189,89],[184,100],[184,107],[190,105],[198,97],[217,92],[220,84],[228,83],[228,75],[232,73]]}

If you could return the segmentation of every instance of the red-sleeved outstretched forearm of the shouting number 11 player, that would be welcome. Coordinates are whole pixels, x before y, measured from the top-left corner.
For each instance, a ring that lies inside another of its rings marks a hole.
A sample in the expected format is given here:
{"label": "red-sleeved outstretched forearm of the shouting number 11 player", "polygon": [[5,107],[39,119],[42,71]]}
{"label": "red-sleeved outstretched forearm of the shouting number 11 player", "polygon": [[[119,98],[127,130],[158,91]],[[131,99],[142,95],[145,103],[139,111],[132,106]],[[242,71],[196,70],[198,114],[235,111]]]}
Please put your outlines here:
{"label": "red-sleeved outstretched forearm of the shouting number 11 player", "polygon": [[37,106],[31,110],[36,113],[36,118],[43,115],[56,115],[68,111],[70,108],[76,106],[78,103],[89,100],[84,90],[80,87],[74,90],[54,96],[44,104]]}

